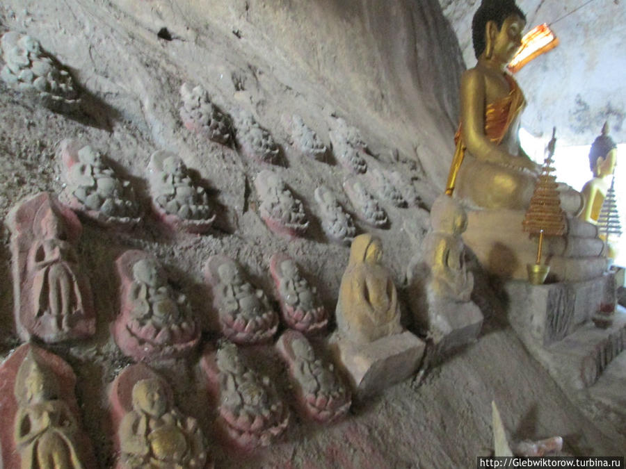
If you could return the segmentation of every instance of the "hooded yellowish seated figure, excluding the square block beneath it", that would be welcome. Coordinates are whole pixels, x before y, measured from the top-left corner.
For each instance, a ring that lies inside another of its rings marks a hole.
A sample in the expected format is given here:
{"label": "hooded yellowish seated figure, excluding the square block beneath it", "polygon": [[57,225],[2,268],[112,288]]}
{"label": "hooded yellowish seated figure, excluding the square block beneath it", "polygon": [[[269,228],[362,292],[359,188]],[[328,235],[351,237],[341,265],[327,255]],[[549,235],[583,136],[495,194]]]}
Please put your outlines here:
{"label": "hooded yellowish seated figure, excluding the square block beneath it", "polygon": [[354,343],[399,334],[400,307],[394,281],[380,263],[383,245],[369,233],[354,238],[339,286],[337,328]]}

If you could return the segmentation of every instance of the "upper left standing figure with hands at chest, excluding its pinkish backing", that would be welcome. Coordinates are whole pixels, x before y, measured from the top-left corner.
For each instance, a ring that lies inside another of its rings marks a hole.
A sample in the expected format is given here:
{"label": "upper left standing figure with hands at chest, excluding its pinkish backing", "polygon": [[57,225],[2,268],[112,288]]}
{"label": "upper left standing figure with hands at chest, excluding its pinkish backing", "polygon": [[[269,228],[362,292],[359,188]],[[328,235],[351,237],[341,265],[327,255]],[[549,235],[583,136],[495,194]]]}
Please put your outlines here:
{"label": "upper left standing figure with hands at chest, excluding its pinkish backing", "polygon": [[42,205],[33,221],[36,240],[28,265],[33,273],[33,315],[56,331],[69,331],[73,316],[83,315],[78,258],[65,229],[54,208]]}

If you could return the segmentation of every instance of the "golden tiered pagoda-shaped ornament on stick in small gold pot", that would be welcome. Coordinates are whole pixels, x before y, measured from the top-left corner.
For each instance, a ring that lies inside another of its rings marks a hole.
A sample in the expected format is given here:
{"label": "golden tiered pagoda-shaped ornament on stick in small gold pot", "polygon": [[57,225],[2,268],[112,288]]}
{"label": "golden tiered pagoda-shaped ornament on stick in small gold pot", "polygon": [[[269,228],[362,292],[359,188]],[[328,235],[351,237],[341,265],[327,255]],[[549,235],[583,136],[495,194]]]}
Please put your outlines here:
{"label": "golden tiered pagoda-shaped ornament on stick in small gold pot", "polygon": [[552,129],[552,140],[547,146],[547,157],[543,162],[541,174],[537,179],[533,197],[522,222],[524,231],[530,236],[539,236],[537,261],[528,264],[528,280],[533,285],[541,285],[550,270],[549,265],[541,263],[541,249],[545,236],[562,236],[565,233],[565,212],[561,208],[559,191],[556,190],[556,176],[552,174],[552,158],[556,146],[556,127]]}

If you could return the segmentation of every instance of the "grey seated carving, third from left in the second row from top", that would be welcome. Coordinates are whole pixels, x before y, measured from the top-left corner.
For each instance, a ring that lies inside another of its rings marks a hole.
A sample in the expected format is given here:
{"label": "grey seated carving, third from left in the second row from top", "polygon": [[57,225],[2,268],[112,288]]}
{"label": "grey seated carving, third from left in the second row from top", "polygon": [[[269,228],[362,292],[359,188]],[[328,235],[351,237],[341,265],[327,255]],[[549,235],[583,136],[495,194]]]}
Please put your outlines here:
{"label": "grey seated carving, third from left in the second row from top", "polygon": [[291,194],[278,174],[259,172],[255,188],[261,199],[259,212],[269,229],[287,236],[300,236],[307,231],[309,222],[302,202]]}

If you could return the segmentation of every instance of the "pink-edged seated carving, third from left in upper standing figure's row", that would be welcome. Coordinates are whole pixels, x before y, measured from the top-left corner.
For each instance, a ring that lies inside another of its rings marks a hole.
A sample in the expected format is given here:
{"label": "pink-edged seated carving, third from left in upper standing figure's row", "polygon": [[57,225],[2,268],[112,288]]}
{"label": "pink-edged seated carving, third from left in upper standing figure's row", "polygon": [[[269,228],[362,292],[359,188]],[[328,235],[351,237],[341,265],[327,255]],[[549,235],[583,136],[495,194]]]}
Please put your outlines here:
{"label": "pink-edged seated carving, third from left in upper standing figure's row", "polygon": [[211,286],[224,336],[239,344],[263,343],[273,337],[278,314],[263,290],[246,281],[235,261],[211,256],[204,266],[204,277]]}

